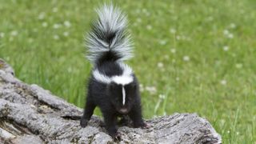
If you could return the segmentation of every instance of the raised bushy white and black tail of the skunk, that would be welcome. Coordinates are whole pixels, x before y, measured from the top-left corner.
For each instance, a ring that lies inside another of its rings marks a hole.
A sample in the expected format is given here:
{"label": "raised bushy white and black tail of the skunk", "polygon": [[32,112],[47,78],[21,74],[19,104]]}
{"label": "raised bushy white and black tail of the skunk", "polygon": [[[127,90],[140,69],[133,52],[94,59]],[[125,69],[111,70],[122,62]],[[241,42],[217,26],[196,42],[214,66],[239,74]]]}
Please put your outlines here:
{"label": "raised bushy white and black tail of the skunk", "polygon": [[126,33],[126,15],[112,5],[96,11],[98,20],[92,24],[86,39],[87,58],[94,64],[130,59],[133,54],[130,35]]}

